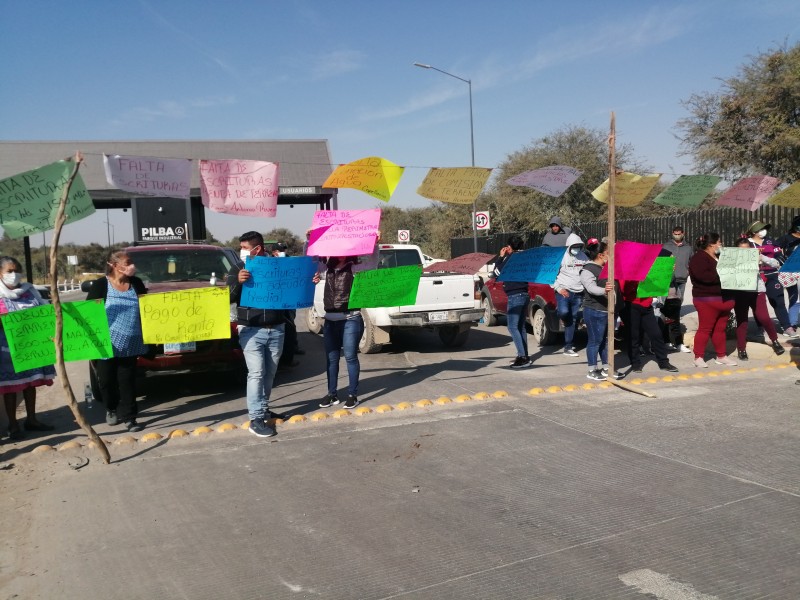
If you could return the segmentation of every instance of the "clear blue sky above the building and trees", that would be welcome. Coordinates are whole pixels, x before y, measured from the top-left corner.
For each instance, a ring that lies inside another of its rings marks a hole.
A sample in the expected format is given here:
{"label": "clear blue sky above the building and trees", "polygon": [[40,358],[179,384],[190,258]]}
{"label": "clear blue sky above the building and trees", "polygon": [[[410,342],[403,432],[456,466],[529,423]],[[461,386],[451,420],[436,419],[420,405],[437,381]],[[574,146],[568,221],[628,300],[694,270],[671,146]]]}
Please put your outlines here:
{"label": "clear blue sky above the building and trees", "polygon": [[[797,0],[2,7],[3,139],[324,138],[336,163],[377,155],[409,167],[391,200],[400,207],[428,203],[416,189],[429,167],[470,163],[467,85],[415,61],[472,79],[478,166],[564,125],[607,129],[613,110],[619,143],[654,172],[680,174],[692,172],[674,138],[681,100],[800,39]],[[340,208],[379,204],[340,196]],[[280,207],[258,228],[300,233],[311,216]],[[105,243],[105,219],[68,225],[62,240]],[[220,239],[252,228],[206,220]],[[117,241],[132,239],[130,213],[111,223]]]}

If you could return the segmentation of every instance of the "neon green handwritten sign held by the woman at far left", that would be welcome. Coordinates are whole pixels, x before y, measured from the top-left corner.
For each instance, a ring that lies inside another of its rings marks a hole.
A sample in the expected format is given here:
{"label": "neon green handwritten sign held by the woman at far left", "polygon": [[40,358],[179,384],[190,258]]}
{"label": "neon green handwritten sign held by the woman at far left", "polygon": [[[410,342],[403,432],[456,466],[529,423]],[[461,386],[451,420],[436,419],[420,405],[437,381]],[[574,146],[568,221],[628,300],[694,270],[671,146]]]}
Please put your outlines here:
{"label": "neon green handwritten sign held by the woman at far left", "polygon": [[[61,314],[66,362],[114,356],[106,309],[101,300],[65,302],[61,305]],[[5,314],[3,328],[17,373],[55,364],[56,316],[52,304]]]}

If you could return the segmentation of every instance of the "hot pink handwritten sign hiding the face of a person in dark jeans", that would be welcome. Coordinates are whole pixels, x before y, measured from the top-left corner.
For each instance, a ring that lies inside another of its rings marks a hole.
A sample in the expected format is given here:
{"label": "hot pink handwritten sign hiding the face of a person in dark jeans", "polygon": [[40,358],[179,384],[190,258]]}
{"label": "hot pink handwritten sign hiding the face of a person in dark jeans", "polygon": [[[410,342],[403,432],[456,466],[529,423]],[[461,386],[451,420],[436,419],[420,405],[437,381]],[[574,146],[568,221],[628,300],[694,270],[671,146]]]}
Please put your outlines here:
{"label": "hot pink handwritten sign hiding the face of a person in dark jeans", "polygon": [[381,222],[381,209],[318,210],[308,238],[309,256],[372,254]]}

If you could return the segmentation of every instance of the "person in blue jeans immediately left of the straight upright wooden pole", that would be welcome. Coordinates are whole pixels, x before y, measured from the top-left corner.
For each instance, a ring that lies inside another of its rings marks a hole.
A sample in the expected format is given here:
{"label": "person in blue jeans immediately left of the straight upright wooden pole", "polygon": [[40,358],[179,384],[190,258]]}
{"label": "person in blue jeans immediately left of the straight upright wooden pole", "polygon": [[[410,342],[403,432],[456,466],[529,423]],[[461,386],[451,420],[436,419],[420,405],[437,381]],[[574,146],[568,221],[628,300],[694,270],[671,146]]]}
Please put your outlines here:
{"label": "person in blue jeans immediately left of the straight upright wooden pole", "polygon": [[[583,296],[583,322],[589,341],[586,344],[586,362],[589,365],[589,379],[604,381],[608,378],[608,293],[614,284],[607,279],[600,279],[603,265],[608,262],[605,242],[594,242],[586,245],[589,258],[580,271]],[[597,368],[598,355],[602,361]]]}

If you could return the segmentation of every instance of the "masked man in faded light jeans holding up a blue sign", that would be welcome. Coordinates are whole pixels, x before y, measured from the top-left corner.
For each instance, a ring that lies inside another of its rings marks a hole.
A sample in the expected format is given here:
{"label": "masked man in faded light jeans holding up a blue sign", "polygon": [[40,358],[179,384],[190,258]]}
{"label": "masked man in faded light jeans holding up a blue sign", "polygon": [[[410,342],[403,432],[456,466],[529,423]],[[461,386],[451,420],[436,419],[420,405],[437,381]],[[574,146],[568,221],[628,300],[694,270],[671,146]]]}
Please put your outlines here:
{"label": "masked man in faded light jeans holding up a blue sign", "polygon": [[[255,256],[266,256],[264,238],[257,231],[239,236],[239,256],[242,262]],[[268,420],[284,415],[269,409],[269,399],[278,361],[283,351],[286,312],[241,305],[242,285],[250,279],[246,268],[233,269],[228,275],[231,302],[236,303],[236,322],[239,344],[247,364],[247,413],[250,433],[258,437],[271,437],[277,433]]]}

